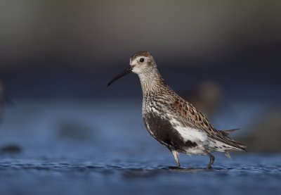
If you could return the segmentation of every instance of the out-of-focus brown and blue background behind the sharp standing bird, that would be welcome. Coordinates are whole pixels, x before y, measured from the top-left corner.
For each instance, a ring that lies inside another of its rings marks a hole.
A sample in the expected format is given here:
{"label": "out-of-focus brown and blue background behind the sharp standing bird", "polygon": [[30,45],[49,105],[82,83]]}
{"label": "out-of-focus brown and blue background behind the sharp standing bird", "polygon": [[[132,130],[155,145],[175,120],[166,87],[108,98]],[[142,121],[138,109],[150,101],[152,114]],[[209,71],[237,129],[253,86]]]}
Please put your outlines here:
{"label": "out-of-focus brown and blue background behind the sharp standing bird", "polygon": [[106,87],[140,50],[218,130],[281,151],[281,1],[9,0],[0,15],[2,156],[174,163],[145,130],[137,75]]}

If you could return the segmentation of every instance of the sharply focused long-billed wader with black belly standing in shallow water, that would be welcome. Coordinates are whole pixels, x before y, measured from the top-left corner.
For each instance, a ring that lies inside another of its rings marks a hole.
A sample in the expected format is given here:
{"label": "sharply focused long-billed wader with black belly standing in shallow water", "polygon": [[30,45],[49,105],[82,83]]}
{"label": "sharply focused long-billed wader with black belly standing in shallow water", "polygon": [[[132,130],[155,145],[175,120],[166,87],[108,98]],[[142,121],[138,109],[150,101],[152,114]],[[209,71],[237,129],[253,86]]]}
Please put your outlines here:
{"label": "sharply focused long-billed wader with black belly standing in shallow water", "polygon": [[178,167],[179,153],[208,155],[207,168],[214,163],[214,151],[230,158],[229,150],[246,151],[244,144],[231,139],[234,130],[216,130],[191,103],[169,88],[157,70],[148,51],[139,51],[130,58],[130,66],[113,78],[107,87],[129,73],[136,73],[143,89],[143,122],[146,129],[174,155]]}

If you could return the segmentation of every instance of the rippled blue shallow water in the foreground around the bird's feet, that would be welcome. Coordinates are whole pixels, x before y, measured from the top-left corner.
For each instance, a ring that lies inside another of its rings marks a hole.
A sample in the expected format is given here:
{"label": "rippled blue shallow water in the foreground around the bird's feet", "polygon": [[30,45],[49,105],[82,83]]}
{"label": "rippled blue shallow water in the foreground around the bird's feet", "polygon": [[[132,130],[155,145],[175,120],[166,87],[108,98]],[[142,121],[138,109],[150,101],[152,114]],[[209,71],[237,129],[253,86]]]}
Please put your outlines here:
{"label": "rippled blue shallow water in the foreground around the bird's feet", "polygon": [[[247,154],[223,160],[212,170],[207,158],[190,158],[188,168],[172,161],[15,158],[2,156],[0,194],[280,194],[280,155]],[[133,161],[130,162],[130,161]]]}

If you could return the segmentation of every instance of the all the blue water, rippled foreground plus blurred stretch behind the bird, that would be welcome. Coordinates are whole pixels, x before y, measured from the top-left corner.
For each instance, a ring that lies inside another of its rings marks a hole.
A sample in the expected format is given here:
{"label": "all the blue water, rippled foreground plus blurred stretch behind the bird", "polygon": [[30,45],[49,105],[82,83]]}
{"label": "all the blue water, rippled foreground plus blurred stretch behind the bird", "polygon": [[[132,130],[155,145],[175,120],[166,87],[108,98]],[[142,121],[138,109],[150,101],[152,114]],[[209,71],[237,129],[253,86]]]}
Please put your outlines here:
{"label": "all the blue water, rippled foreground plus blurred stretch behind the bird", "polygon": [[171,153],[146,132],[138,102],[17,102],[6,111],[0,146],[22,151],[0,153],[0,194],[281,193],[278,153],[214,153],[212,170],[207,156],[181,154],[183,168],[173,167]]}

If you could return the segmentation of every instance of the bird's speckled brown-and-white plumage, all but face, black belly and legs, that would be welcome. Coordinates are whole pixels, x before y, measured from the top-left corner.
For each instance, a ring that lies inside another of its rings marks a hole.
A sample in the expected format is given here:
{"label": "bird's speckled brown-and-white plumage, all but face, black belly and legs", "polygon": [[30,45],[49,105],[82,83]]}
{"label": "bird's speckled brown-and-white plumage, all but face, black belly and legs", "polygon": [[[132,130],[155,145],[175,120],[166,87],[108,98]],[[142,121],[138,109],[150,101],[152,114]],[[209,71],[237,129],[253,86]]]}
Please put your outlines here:
{"label": "bird's speckled brown-and-white plumage, all but face, black belly and legs", "polygon": [[[138,52],[131,57],[131,61],[139,56],[149,57],[150,54],[146,51]],[[150,58],[148,58],[150,61]],[[151,56],[151,61],[154,59]],[[150,62],[151,63],[151,62]],[[211,123],[204,117],[197,108],[192,106],[191,103],[185,101],[178,96],[171,88],[169,88],[164,79],[159,74],[156,64],[153,68],[143,70],[138,74],[141,80],[141,87],[143,89],[143,118],[147,117],[148,113],[159,115],[160,118],[168,120],[175,130],[181,132],[181,136],[185,140],[197,141],[197,149],[194,153],[205,154],[212,151],[226,152],[232,150],[245,150],[244,144],[240,144],[228,137],[227,132],[216,130]],[[145,124],[150,134],[156,132],[151,130],[149,124]],[[155,128],[155,127],[154,127]],[[156,127],[157,128],[157,127]],[[161,131],[161,130],[159,130]],[[189,131],[190,133],[186,132]],[[188,139],[186,136],[202,137],[198,140]],[[155,134],[152,134],[155,137]],[[204,140],[203,140],[204,139]],[[162,140],[157,139],[163,144]],[[164,144],[166,145],[166,144]],[[198,148],[201,146],[200,148]],[[193,150],[195,150],[194,148]],[[190,149],[181,149],[180,151],[188,151],[193,153]],[[186,152],[187,153],[187,152]]]}

